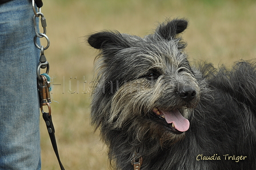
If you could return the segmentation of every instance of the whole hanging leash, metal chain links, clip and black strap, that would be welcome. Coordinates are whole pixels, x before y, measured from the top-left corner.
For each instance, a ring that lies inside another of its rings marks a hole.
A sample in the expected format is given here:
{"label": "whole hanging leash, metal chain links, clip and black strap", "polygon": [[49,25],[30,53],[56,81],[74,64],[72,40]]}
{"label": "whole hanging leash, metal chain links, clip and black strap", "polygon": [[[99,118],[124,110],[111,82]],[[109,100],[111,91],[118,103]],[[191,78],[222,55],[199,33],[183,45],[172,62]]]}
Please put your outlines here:
{"label": "whole hanging leash, metal chain links, clip and black strap", "polygon": [[[35,3],[38,7],[38,10],[35,7]],[[47,130],[48,130],[48,133],[49,133],[49,136],[50,136],[50,140],[51,140],[51,144],[53,145],[55,155],[57,156],[57,159],[58,159],[58,162],[59,162],[59,166],[61,167],[61,170],[65,170],[62,163],[61,163],[61,160],[59,159],[57,143],[56,143],[55,135],[54,135],[55,130],[54,130],[53,122],[51,120],[51,107],[50,107],[51,86],[50,86],[50,76],[48,75],[49,70],[50,70],[50,66],[49,66],[49,63],[47,62],[46,57],[45,57],[45,50],[47,50],[47,48],[49,48],[50,41],[49,41],[49,38],[46,35],[46,26],[47,26],[46,25],[46,19],[45,19],[45,16],[43,15],[43,13],[41,13],[41,7],[43,6],[42,0],[32,0],[32,6],[33,6],[33,11],[34,11],[33,23],[34,23],[34,29],[35,29],[34,44],[39,50],[41,50],[39,63],[38,63],[38,67],[37,67],[37,83],[38,83],[38,91],[39,91],[39,105],[40,105],[41,112],[42,112],[42,115],[43,115],[43,120],[45,120],[45,123],[46,123],[46,127],[47,127]],[[40,33],[39,29],[37,27],[36,18],[39,18],[39,17],[41,17],[41,25],[42,25],[42,28],[43,28],[43,33]],[[46,47],[44,47],[42,45],[39,46],[39,44],[37,43],[37,38],[39,38],[39,39],[40,38],[46,38],[46,42],[47,42]],[[45,73],[40,74],[41,69],[46,69]],[[47,108],[47,111],[43,110],[44,106]]]}

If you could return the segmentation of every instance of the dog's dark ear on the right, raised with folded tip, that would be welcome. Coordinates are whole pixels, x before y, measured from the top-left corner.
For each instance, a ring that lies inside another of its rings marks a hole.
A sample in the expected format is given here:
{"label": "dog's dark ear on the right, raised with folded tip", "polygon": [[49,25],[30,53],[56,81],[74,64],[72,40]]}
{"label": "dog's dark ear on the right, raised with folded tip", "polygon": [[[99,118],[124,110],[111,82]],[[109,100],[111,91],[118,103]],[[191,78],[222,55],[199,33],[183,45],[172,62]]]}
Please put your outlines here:
{"label": "dog's dark ear on the right, raised with folded tip", "polygon": [[171,39],[175,39],[177,34],[182,33],[187,28],[187,23],[185,19],[174,19],[159,25],[156,32],[162,38],[170,41]]}

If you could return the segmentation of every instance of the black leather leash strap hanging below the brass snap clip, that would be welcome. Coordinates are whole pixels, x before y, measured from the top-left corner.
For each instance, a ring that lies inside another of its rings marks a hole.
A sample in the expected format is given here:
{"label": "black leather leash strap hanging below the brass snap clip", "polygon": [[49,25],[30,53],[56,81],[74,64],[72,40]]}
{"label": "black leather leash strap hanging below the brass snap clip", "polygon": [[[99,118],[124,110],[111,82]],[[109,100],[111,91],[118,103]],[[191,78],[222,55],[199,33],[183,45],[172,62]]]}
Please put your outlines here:
{"label": "black leather leash strap hanging below the brass snap clip", "polygon": [[53,145],[53,149],[55,152],[55,155],[58,159],[59,162],[59,167],[61,167],[61,170],[65,170],[65,168],[63,167],[62,163],[61,163],[61,159],[59,159],[59,152],[58,152],[58,148],[57,148],[57,142],[55,139],[55,135],[54,135],[54,126],[53,126],[53,121],[51,120],[51,115],[49,116],[49,113],[43,112],[43,120],[45,120],[45,124],[51,139],[51,144]]}

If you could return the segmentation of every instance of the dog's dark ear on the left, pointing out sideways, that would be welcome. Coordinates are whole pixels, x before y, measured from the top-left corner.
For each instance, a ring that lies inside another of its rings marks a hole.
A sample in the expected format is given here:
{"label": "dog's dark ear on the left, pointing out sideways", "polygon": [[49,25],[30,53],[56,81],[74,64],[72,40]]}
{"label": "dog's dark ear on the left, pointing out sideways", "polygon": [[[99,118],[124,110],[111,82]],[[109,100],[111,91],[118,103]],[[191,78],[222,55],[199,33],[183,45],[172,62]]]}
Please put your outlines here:
{"label": "dog's dark ear on the left, pointing out sideways", "polygon": [[87,41],[90,46],[96,49],[102,49],[105,47],[129,47],[129,44],[122,37],[122,34],[118,32],[102,31],[100,33],[90,35]]}

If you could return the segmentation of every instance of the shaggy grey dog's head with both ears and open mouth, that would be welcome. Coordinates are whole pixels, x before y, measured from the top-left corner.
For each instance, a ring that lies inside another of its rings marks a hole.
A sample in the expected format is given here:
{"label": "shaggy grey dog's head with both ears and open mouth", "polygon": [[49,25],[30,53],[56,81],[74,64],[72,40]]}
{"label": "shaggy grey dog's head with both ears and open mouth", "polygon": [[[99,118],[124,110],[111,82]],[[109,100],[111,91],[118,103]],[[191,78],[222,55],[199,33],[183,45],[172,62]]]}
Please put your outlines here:
{"label": "shaggy grey dog's head with both ears and open mouth", "polygon": [[173,143],[184,137],[202,83],[179,36],[186,27],[186,20],[174,19],[144,38],[117,31],[89,37],[89,44],[101,51],[95,64],[93,124],[105,131],[133,131],[138,140],[150,135]]}

